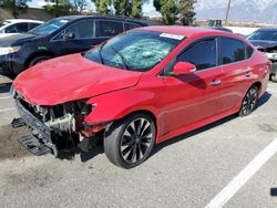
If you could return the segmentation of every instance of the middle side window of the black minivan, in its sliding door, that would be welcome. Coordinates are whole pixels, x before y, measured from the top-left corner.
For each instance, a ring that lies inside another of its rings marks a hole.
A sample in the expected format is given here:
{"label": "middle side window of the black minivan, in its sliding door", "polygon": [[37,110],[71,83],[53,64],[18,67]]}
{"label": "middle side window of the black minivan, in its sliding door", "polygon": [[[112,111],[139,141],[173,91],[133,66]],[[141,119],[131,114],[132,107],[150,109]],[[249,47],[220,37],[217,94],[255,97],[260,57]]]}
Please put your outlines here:
{"label": "middle side window of the black minivan, in its sliding door", "polygon": [[114,37],[123,32],[123,23],[115,21],[100,20],[96,21],[98,37]]}

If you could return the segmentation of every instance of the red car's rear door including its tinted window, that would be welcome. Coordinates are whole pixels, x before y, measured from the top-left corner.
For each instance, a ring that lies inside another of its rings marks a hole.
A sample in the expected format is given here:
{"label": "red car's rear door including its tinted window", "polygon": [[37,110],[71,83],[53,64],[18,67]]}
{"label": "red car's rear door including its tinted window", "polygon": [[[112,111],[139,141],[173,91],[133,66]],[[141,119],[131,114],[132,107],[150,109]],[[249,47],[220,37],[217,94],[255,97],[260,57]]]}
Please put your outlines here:
{"label": "red car's rear door including its tinted window", "polygon": [[222,37],[219,39],[219,64],[222,65],[222,103],[223,110],[229,111],[242,104],[245,91],[253,79],[249,61],[254,50],[245,42]]}

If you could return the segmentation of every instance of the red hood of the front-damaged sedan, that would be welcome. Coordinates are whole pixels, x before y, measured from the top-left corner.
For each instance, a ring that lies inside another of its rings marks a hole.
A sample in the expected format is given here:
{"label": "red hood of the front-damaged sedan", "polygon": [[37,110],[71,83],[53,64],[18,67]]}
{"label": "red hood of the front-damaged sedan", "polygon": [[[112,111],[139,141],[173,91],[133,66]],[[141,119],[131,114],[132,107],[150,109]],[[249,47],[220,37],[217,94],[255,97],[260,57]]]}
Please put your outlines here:
{"label": "red hood of the front-damaged sedan", "polygon": [[32,104],[57,105],[134,86],[141,75],[142,72],[102,65],[72,54],[24,71],[14,80],[13,87]]}

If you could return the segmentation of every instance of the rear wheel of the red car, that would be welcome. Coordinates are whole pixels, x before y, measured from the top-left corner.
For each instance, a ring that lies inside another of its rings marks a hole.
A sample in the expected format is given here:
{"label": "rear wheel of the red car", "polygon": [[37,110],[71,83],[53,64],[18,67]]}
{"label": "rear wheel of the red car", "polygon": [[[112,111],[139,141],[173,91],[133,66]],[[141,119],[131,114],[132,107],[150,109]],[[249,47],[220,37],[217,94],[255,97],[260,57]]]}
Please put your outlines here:
{"label": "rear wheel of the red car", "polygon": [[257,107],[257,104],[258,104],[258,95],[259,95],[258,87],[256,85],[253,85],[247,91],[247,93],[243,100],[242,107],[239,111],[239,116],[247,116],[247,115],[252,114],[252,112],[255,111],[255,108]]}

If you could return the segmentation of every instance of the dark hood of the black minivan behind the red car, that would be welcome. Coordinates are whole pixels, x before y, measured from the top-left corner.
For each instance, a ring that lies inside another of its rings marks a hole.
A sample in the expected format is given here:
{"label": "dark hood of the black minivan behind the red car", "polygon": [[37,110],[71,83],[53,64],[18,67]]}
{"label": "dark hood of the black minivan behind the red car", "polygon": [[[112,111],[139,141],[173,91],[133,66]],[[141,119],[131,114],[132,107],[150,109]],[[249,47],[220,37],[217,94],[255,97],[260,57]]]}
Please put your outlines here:
{"label": "dark hood of the black minivan behind the red car", "polygon": [[39,35],[34,34],[20,34],[20,33],[14,33],[11,35],[3,35],[0,37],[0,46],[14,46],[14,45],[20,45],[27,41],[33,41],[34,39],[38,39]]}

